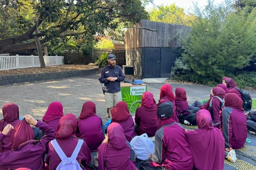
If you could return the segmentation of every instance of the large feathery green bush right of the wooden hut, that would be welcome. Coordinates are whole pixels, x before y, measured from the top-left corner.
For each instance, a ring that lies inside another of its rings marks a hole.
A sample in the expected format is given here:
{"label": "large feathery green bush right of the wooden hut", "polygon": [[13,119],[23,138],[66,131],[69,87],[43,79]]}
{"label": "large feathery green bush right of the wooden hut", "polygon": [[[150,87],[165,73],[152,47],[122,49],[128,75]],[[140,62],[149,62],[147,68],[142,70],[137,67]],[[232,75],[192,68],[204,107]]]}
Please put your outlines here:
{"label": "large feathery green bush right of the wooden hut", "polygon": [[205,10],[195,11],[196,19],[182,39],[184,60],[196,75],[220,82],[249,65],[256,51],[256,9],[236,14],[228,5],[208,1]]}

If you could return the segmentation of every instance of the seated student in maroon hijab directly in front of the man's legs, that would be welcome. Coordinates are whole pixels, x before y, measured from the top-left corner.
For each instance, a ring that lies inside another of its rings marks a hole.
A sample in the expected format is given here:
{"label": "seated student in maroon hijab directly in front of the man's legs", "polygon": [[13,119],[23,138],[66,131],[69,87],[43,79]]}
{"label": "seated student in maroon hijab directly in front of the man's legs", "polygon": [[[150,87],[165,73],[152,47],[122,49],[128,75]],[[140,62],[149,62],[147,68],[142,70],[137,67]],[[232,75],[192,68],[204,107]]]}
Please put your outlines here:
{"label": "seated student in maroon hijab directly in front of the man's legs", "polygon": [[110,113],[112,115],[111,123],[119,123],[124,130],[124,136],[131,142],[132,137],[136,136],[136,134],[133,128],[134,122],[128,111],[127,104],[124,101],[117,102],[116,106],[110,110]]}

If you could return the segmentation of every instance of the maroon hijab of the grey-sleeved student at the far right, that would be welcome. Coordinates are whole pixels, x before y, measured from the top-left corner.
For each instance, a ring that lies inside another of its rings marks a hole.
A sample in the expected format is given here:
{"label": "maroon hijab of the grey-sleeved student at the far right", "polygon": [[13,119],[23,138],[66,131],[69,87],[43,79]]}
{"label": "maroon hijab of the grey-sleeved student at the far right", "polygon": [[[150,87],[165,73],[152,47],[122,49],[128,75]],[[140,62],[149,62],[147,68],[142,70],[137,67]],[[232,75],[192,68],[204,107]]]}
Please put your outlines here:
{"label": "maroon hijab of the grey-sleeved student at the far right", "polygon": [[233,107],[237,110],[244,111],[243,100],[236,94],[236,93],[228,93],[224,97],[225,100],[225,106],[226,107]]}

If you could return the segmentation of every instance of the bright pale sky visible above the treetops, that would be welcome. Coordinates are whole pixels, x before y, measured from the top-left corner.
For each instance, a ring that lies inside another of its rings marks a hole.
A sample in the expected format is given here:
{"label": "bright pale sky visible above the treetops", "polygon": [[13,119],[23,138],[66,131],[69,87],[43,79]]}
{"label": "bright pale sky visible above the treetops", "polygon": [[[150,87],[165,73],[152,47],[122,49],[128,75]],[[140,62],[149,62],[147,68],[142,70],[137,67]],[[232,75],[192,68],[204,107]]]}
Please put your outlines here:
{"label": "bright pale sky visible above the treetops", "polygon": [[[220,4],[224,2],[225,0],[214,0],[214,3]],[[170,5],[175,3],[176,6],[179,6],[181,8],[185,9],[186,13],[192,12],[194,9],[193,2],[197,2],[198,6],[200,8],[204,8],[204,6],[207,4],[207,0],[154,0],[154,4],[156,5]],[[146,8],[152,9],[154,6],[152,4],[149,4]]]}

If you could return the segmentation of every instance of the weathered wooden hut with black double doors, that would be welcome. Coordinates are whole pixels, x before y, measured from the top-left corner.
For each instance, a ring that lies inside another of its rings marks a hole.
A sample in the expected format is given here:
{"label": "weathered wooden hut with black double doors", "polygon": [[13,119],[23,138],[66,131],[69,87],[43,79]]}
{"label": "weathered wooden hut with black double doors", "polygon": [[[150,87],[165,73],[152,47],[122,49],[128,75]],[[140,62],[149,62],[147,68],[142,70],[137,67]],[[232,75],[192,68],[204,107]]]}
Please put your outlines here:
{"label": "weathered wooden hut with black double doors", "polygon": [[143,19],[126,31],[126,64],[133,66],[135,76],[138,78],[170,76],[180,47],[179,33],[184,28],[182,25]]}

